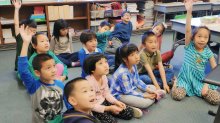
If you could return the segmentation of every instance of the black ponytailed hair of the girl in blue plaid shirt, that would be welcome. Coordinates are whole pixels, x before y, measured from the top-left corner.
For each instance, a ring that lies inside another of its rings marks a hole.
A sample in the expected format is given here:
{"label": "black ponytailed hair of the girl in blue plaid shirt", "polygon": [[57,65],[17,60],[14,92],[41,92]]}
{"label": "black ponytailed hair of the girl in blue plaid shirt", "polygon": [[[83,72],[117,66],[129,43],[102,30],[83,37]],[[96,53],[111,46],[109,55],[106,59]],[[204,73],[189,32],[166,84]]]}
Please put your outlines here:
{"label": "black ponytailed hair of the girl in blue plaid shirt", "polygon": [[138,47],[135,44],[127,43],[117,48],[115,54],[115,70],[118,69],[121,63],[125,64],[123,59],[127,59],[130,54],[138,51]]}

